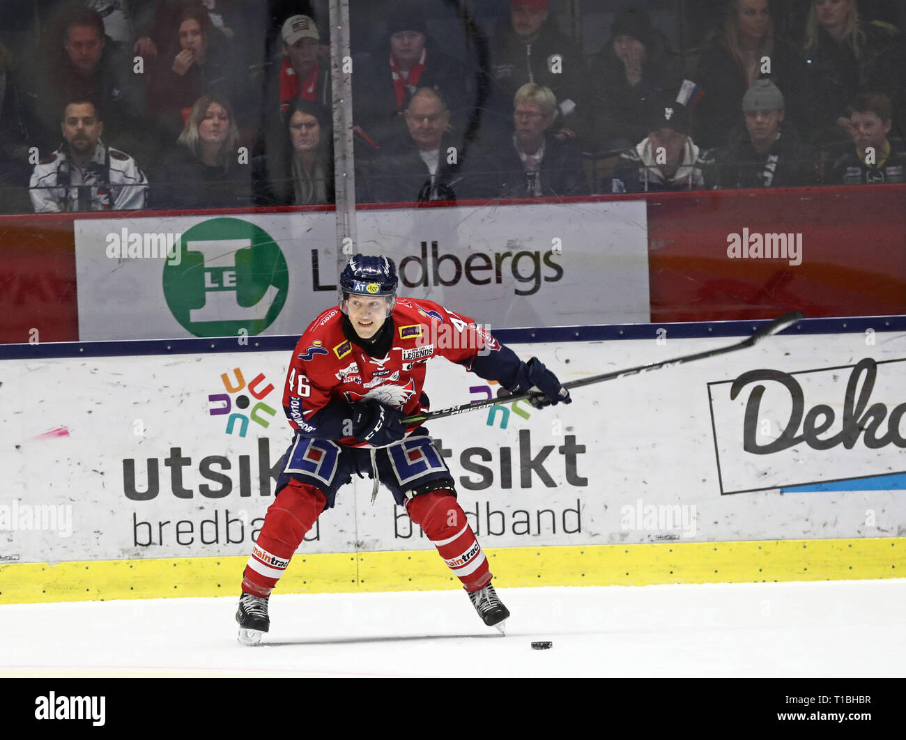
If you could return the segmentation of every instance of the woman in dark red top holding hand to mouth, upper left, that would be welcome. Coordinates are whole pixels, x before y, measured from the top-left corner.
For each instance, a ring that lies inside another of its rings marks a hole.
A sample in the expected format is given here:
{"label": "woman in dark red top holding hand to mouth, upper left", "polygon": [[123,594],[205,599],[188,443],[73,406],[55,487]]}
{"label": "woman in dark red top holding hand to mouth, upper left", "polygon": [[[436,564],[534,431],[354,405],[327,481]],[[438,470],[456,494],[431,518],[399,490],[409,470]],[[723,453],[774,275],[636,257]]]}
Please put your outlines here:
{"label": "woman in dark red top holding hand to mouth, upper left", "polygon": [[180,15],[177,37],[160,54],[149,85],[149,110],[162,136],[172,140],[185,126],[192,105],[204,94],[232,98],[240,72],[230,42],[212,32],[204,7]]}

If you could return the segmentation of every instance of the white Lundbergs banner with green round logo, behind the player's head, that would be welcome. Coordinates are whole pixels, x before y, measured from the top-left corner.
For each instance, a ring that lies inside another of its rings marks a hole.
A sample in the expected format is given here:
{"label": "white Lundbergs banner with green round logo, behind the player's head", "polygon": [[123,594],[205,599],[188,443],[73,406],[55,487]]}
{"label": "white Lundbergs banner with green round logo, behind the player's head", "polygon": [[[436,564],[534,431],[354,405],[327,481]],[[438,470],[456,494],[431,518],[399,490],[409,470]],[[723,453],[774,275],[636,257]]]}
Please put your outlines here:
{"label": "white Lundbergs banner with green round logo, behind the player's head", "polygon": [[[336,301],[333,212],[73,227],[82,341],[301,334]],[[650,318],[643,201],[375,209],[358,235],[355,251],[395,260],[400,294],[486,325]]]}

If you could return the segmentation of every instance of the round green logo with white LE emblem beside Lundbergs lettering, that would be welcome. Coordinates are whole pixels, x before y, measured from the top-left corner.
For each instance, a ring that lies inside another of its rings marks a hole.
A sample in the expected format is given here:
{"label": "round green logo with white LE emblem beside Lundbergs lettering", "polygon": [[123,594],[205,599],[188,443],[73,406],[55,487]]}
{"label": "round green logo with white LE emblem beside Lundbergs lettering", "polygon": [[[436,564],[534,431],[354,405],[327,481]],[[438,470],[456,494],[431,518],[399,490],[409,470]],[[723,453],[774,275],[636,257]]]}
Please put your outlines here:
{"label": "round green logo with white LE emblem beside Lundbergs lettering", "polygon": [[192,226],[164,263],[164,297],[174,318],[197,337],[260,334],[286,303],[286,259],[264,229],[239,218]]}

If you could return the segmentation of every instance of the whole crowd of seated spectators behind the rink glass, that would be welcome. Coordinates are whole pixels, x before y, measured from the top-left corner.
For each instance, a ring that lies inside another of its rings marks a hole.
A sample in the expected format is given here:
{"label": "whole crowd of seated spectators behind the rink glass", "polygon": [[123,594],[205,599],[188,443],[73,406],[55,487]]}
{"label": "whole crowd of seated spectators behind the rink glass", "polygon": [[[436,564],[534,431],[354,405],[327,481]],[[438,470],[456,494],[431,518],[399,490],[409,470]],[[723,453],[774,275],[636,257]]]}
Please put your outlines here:
{"label": "whole crowd of seated spectators behind the rink glass", "polygon": [[[454,5],[350,2],[359,202],[903,182],[896,0]],[[326,2],[6,25],[0,213],[334,202]]]}

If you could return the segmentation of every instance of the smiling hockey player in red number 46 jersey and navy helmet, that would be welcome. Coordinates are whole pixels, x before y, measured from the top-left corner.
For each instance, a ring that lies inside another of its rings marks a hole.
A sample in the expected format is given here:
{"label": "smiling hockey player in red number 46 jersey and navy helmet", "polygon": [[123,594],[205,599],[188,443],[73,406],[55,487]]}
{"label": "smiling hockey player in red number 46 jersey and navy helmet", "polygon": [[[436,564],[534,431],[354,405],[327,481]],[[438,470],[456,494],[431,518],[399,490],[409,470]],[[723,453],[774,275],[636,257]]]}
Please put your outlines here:
{"label": "smiling hockey player in red number 46 jersey and navy helmet", "polygon": [[374,479],[372,500],[379,480],[390,489],[462,581],[478,616],[503,631],[509,611],[491,585],[453,476],[428,432],[401,419],[428,409],[421,389],[426,363],[435,357],[513,393],[530,392],[536,408],[572,399],[537,358],[521,361],[466,316],[430,301],[397,299],[396,290],[390,259],[355,255],[340,276],[339,307],[318,316],[296,344],[284,389],[295,434],[236,611],[239,641],[246,645],[257,644],[269,629],[271,591],[352,473]]}

